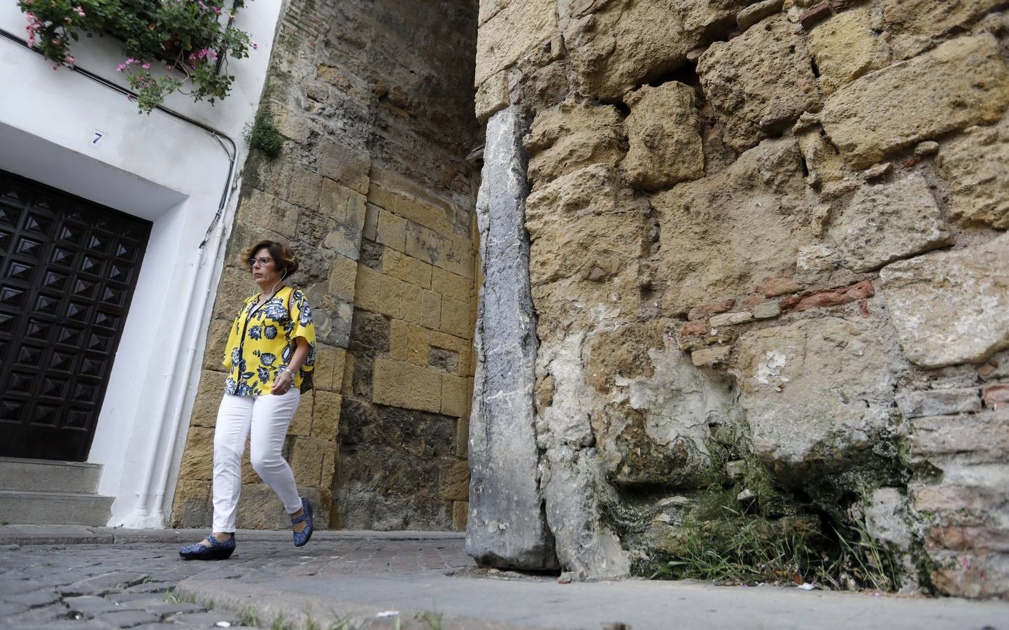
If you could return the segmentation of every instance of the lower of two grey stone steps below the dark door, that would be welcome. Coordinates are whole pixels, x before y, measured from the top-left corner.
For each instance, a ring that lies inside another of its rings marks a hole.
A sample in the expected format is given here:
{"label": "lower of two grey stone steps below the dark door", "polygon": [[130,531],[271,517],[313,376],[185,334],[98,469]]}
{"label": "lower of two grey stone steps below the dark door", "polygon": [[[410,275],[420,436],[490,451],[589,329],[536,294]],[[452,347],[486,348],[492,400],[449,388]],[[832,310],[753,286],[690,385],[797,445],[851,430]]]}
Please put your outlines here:
{"label": "lower of two grey stone steps below the dark door", "polygon": [[95,525],[109,522],[112,497],[86,493],[0,490],[0,522],[11,525]]}

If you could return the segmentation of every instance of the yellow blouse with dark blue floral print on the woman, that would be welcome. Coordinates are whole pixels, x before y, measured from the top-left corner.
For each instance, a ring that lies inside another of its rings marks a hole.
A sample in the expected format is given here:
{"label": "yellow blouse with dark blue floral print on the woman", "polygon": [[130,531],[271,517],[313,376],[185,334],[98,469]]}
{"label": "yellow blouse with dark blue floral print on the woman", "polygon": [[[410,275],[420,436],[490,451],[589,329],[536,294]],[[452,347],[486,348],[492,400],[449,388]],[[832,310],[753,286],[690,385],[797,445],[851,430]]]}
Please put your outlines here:
{"label": "yellow blouse with dark blue floral print on the woman", "polygon": [[309,342],[309,354],[295,375],[293,387],[301,389],[306,376],[315,366],[315,325],[305,294],[284,287],[259,308],[255,307],[257,298],[258,294],[252,295],[242,303],[228,335],[222,364],[230,368],[231,373],[225,394],[268,396],[276,373],[288,365],[295,353],[297,337],[305,337]]}

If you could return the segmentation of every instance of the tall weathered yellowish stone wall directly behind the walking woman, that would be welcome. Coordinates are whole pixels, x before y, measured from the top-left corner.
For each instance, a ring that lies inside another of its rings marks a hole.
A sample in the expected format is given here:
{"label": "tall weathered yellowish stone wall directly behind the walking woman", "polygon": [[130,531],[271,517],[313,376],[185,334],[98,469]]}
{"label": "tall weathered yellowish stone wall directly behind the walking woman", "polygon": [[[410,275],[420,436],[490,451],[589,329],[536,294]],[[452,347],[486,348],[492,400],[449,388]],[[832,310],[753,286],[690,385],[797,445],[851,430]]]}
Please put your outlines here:
{"label": "tall weathered yellowish stone wall directly behind the walking woman", "polygon": [[[285,454],[317,526],[465,526],[475,304],[476,3],[292,0],[260,110],[282,154],[253,151],[213,311],[173,520],[208,525],[219,356],[255,287],[263,237],[302,259],[315,389]],[[238,527],[287,528],[246,461]]]}

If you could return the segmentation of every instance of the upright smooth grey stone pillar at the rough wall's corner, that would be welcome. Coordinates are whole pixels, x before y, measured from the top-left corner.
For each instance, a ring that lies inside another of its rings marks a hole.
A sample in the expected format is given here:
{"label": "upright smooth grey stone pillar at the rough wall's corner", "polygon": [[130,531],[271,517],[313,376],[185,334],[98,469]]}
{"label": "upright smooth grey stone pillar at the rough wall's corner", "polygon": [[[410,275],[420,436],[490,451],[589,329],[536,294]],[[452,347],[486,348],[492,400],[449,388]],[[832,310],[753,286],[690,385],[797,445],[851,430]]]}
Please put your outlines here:
{"label": "upright smooth grey stone pillar at the rough wall's corner", "polygon": [[536,316],[525,228],[523,121],[508,108],[487,122],[476,201],[483,286],[469,437],[466,552],[481,565],[557,567],[539,487],[533,387]]}

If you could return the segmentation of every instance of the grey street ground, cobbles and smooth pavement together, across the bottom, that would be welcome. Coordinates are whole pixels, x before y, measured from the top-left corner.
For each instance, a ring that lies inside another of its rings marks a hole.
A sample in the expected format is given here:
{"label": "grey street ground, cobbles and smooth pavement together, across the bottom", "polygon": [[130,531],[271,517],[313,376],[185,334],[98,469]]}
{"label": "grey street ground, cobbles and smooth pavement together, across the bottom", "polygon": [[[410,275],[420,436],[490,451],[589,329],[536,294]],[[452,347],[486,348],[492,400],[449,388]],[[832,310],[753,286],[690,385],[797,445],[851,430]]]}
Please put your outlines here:
{"label": "grey street ground, cobbles and smooth pavement together, across the bottom", "polygon": [[[239,531],[230,560],[186,562],[179,542],[205,532],[57,529],[0,527],[0,627],[1009,630],[1006,602],[641,580],[560,585],[477,569],[459,534],[318,532],[296,549],[290,532]],[[377,616],[384,611],[399,616]]]}

